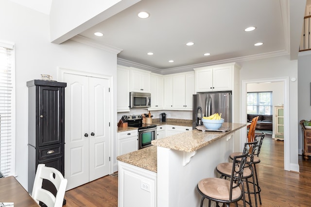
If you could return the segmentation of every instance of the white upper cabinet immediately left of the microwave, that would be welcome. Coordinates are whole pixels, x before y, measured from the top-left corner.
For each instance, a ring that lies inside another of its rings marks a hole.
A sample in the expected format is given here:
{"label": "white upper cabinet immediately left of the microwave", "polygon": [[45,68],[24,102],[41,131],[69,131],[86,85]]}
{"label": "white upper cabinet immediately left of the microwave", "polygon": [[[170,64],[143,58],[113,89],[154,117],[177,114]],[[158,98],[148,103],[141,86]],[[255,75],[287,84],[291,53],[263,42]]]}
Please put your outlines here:
{"label": "white upper cabinet immediately left of the microwave", "polygon": [[130,69],[119,66],[117,68],[117,112],[130,111]]}

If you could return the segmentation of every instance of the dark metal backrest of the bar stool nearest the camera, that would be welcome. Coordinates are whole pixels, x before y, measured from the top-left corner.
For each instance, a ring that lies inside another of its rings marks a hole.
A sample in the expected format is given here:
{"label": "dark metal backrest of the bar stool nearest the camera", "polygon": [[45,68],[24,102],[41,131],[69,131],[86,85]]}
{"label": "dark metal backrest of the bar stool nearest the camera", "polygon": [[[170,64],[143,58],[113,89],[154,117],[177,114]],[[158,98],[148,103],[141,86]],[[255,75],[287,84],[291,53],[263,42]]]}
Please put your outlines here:
{"label": "dark metal backrest of the bar stool nearest the camera", "polygon": [[[233,166],[232,166],[231,179],[230,179],[230,194],[229,194],[230,201],[232,201],[232,190],[234,188],[239,188],[240,185],[242,185],[242,189],[244,189],[244,185],[242,182],[242,176],[244,172],[247,155],[248,155],[248,149],[244,147],[242,155],[237,155],[233,157],[233,163],[232,163]],[[242,193],[242,196],[244,197],[243,193]]]}

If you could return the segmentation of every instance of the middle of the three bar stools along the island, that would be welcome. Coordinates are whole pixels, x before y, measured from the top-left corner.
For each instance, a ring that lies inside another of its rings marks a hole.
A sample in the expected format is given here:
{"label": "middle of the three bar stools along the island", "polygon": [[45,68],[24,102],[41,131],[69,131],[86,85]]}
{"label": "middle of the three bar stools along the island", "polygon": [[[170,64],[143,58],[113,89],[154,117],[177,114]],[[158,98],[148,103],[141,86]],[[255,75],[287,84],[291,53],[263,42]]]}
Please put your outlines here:
{"label": "middle of the three bar stools along the island", "polygon": [[[249,204],[249,206],[252,206],[252,201],[251,201],[251,196],[250,196],[250,190],[249,190],[249,183],[253,184],[254,192],[256,192],[256,186],[255,184],[255,178],[254,178],[254,169],[253,169],[253,158],[254,158],[254,153],[256,150],[257,146],[257,140],[254,142],[247,142],[244,144],[244,148],[249,147],[248,150],[248,155],[246,158],[246,164],[244,166],[244,172],[242,174],[242,182],[244,181],[246,183],[246,189],[247,191],[244,190],[245,193],[248,194],[248,202],[245,201],[245,203]],[[251,153],[249,152],[251,150]],[[239,159],[237,160],[239,161]],[[217,172],[221,175],[220,178],[231,178],[231,171],[232,171],[232,163],[231,162],[226,162],[226,163],[220,163],[216,167]],[[248,182],[248,179],[252,178],[253,182]]]}

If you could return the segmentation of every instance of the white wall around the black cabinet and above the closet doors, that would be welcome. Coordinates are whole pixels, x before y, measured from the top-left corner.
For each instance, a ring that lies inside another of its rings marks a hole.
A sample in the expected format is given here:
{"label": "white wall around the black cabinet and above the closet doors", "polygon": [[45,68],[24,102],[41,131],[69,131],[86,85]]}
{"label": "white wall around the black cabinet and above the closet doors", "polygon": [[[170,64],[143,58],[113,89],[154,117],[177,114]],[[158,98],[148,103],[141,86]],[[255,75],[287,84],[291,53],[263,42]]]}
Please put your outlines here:
{"label": "white wall around the black cabinet and above the closet doors", "polygon": [[[27,189],[28,88],[26,82],[40,79],[40,74],[50,74],[55,80],[57,67],[113,76],[116,80],[117,55],[71,40],[61,45],[50,43],[49,16],[8,0],[0,1],[0,25],[0,40],[14,42],[16,46],[15,167],[17,180]],[[113,84],[116,88],[116,81]],[[113,99],[114,103],[117,103],[116,93]],[[113,110],[113,117],[116,117],[116,108]],[[117,137],[116,132],[113,137]]]}

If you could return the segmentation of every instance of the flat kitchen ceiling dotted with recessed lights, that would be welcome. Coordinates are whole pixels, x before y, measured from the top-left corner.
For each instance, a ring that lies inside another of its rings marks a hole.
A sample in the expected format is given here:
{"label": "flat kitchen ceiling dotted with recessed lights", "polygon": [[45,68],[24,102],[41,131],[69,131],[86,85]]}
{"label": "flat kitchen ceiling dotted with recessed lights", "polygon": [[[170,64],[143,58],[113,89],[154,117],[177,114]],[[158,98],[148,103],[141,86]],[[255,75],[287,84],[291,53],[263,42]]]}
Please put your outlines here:
{"label": "flat kitchen ceiling dotted with recessed lights", "polygon": [[[141,0],[80,35],[120,48],[121,59],[156,69],[254,58],[288,50],[282,2],[286,1]],[[150,17],[138,18],[140,11]],[[257,29],[244,32],[249,26]],[[257,42],[264,44],[256,47]],[[207,52],[210,55],[204,56]]]}

